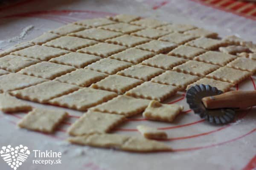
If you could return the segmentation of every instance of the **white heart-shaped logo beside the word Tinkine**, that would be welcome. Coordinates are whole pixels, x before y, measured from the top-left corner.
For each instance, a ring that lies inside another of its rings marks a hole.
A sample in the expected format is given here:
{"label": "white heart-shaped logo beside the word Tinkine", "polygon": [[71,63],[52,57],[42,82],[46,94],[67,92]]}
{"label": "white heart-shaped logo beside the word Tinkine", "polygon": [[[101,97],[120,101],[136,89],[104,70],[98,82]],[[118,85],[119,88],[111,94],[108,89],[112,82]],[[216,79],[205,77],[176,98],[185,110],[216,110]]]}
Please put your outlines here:
{"label": "white heart-shaped logo beside the word Tinkine", "polygon": [[28,147],[20,144],[13,148],[11,145],[3,146],[0,150],[0,156],[3,160],[14,170],[22,165],[24,161],[28,158],[30,151]]}

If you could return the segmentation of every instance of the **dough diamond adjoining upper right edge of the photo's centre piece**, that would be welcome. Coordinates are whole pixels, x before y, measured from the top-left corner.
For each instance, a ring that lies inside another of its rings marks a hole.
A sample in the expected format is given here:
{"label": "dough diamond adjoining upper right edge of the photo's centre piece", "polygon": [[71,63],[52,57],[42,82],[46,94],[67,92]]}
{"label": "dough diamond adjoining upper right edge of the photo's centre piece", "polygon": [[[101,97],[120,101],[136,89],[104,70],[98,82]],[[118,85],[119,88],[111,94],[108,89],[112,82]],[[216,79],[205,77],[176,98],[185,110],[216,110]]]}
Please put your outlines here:
{"label": "dough diamond adjoining upper right edge of the photo's centre piece", "polygon": [[117,74],[135,79],[141,79],[143,81],[149,81],[152,77],[156,77],[163,72],[164,70],[161,68],[138,64],[131,66],[130,68],[126,68],[123,71],[119,71]]}

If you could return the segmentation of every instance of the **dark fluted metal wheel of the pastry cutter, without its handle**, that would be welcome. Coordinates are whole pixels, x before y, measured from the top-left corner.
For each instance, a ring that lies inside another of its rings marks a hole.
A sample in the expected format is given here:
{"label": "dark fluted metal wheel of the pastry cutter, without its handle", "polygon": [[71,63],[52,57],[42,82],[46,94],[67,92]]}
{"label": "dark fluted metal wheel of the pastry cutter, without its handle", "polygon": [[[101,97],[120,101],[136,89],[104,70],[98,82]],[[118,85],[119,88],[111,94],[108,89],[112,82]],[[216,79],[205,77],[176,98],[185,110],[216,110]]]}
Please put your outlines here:
{"label": "dark fluted metal wheel of the pastry cutter, without its handle", "polygon": [[221,125],[232,122],[236,112],[233,108],[205,108],[202,99],[207,96],[215,96],[223,92],[210,85],[195,85],[186,92],[186,102],[189,107],[201,118],[213,124]]}

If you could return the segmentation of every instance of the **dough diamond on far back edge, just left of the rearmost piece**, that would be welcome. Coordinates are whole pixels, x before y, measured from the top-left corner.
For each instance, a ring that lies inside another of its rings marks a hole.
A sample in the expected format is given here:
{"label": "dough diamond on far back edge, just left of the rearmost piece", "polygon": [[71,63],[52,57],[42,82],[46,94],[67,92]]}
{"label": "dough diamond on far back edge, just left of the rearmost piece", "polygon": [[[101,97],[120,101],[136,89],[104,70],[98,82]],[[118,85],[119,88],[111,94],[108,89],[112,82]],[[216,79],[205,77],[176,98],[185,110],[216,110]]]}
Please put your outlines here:
{"label": "dough diamond on far back edge, just left of the rearmost piece", "polygon": [[107,18],[93,18],[93,19],[80,20],[75,22],[75,24],[77,25],[87,26],[87,27],[105,26],[113,23],[116,23],[116,22],[108,20]]}

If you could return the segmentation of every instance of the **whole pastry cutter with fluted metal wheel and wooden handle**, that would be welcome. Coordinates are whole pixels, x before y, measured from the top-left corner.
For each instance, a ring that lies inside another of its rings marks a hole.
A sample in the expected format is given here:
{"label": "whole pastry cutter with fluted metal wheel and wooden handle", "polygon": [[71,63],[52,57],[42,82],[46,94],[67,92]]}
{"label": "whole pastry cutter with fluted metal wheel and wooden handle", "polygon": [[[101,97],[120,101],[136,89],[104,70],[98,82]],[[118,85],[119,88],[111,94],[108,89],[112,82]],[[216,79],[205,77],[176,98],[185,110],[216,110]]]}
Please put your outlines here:
{"label": "whole pastry cutter with fluted metal wheel and wooden handle", "polygon": [[210,85],[195,85],[186,92],[189,107],[201,118],[214,123],[226,124],[236,115],[236,108],[256,105],[256,91],[229,91],[223,93]]}

